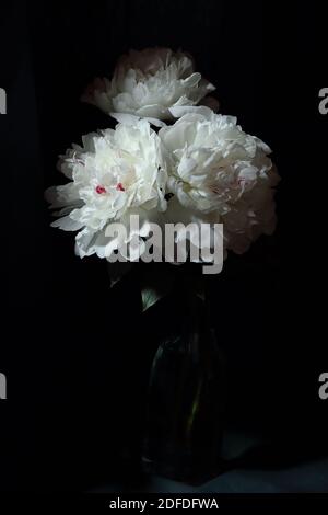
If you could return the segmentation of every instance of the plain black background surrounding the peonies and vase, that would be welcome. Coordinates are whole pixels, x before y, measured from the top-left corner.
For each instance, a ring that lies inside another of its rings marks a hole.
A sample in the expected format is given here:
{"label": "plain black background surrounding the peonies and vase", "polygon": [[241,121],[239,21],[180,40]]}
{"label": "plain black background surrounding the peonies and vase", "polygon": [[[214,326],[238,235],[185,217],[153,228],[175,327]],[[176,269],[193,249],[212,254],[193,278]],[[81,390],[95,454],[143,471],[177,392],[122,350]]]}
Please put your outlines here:
{"label": "plain black background surrounding the peonies and vase", "polygon": [[155,328],[178,306],[171,299],[141,319],[134,277],[109,291],[105,264],[74,256],[72,234],[49,228],[43,198],[62,180],[57,156],[108,126],[79,98],[130,47],[190,52],[218,87],[221,112],[273,149],[282,176],[277,232],[231,256],[212,286],[227,422],[268,444],[242,457],[246,467],[328,454],[328,401],[318,398],[328,369],[323,16],[315,2],[1,3],[0,490],[141,479]]}

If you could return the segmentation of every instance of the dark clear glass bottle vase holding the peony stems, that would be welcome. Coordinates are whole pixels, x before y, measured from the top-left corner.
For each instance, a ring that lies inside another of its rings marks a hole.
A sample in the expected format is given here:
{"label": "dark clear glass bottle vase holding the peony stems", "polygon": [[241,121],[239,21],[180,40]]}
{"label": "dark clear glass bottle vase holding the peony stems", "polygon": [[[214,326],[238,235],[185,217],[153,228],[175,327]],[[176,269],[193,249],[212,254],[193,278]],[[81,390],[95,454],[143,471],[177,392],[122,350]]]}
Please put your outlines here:
{"label": "dark clear glass bottle vase holding the peony stems", "polygon": [[221,469],[224,369],[204,301],[189,294],[180,306],[180,323],[152,363],[143,464],[200,483]]}

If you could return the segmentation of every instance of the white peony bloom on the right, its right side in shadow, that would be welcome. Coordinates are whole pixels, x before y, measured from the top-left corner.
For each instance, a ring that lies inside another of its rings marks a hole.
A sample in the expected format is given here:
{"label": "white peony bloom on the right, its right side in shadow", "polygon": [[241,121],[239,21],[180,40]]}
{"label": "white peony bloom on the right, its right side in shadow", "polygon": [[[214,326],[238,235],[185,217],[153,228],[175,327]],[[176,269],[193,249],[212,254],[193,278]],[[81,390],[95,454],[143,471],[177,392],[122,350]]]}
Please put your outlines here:
{"label": "white peony bloom on the right, its right side in shadow", "polygon": [[269,147],[236,118],[194,107],[159,135],[171,156],[167,219],[223,224],[225,248],[243,253],[276,227],[279,176]]}

